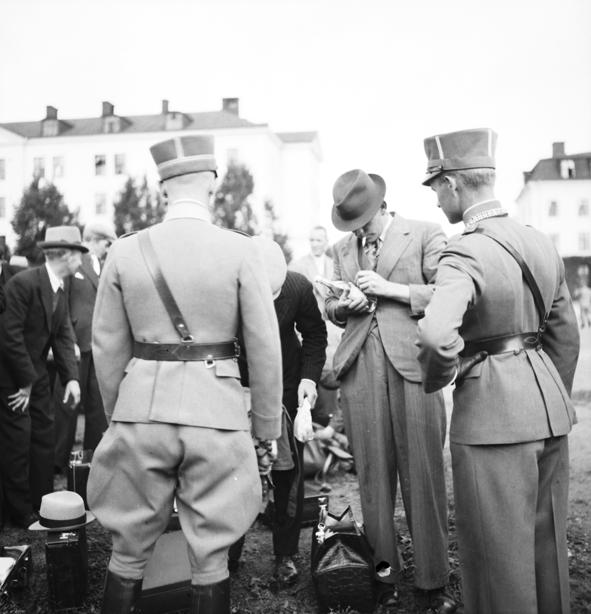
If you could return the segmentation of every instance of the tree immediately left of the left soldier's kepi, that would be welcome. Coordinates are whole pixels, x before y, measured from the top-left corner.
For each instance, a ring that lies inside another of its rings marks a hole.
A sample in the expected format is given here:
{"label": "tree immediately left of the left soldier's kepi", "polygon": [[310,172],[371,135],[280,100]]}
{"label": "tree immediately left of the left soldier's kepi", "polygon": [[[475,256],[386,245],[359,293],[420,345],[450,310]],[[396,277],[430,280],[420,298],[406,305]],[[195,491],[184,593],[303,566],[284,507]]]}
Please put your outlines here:
{"label": "tree immediately left of the left soldier's kepi", "polygon": [[130,177],[115,203],[115,232],[117,236],[135,230],[143,230],[162,222],[165,206],[162,195],[152,192],[144,176],[141,185]]}

